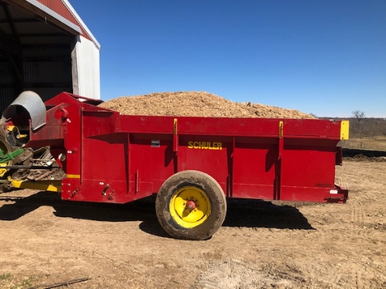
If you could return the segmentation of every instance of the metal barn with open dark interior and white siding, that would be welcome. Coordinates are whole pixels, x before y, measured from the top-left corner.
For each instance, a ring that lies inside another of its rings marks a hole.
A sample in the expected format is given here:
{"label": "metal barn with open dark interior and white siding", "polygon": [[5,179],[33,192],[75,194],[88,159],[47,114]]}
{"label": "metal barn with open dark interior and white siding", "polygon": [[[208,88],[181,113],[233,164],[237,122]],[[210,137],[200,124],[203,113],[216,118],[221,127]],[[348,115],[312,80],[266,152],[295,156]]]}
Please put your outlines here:
{"label": "metal barn with open dark interior and white siding", "polygon": [[67,0],[0,0],[0,109],[24,90],[100,99],[100,44]]}

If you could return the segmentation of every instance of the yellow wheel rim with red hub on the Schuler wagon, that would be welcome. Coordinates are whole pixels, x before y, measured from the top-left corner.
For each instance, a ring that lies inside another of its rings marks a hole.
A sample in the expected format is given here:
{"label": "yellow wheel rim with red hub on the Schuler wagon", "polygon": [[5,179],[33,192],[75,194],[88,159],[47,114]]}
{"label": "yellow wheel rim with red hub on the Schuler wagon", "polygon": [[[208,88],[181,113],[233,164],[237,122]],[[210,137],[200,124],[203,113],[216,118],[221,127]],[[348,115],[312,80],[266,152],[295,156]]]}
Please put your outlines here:
{"label": "yellow wheel rim with red hub on the Schuler wagon", "polygon": [[197,187],[183,187],[175,191],[169,203],[175,222],[184,228],[194,228],[205,222],[211,214],[211,201]]}

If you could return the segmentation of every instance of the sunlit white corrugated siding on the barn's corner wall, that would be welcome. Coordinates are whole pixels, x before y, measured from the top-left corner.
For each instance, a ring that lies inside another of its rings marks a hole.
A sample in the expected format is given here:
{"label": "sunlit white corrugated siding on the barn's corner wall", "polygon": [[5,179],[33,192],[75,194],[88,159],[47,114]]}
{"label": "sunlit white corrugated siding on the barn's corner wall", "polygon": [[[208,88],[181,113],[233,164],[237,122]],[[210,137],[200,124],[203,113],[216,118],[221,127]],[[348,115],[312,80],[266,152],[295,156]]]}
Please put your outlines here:
{"label": "sunlit white corrugated siding on the barn's corner wall", "polygon": [[79,95],[100,100],[99,50],[84,37],[76,43]]}

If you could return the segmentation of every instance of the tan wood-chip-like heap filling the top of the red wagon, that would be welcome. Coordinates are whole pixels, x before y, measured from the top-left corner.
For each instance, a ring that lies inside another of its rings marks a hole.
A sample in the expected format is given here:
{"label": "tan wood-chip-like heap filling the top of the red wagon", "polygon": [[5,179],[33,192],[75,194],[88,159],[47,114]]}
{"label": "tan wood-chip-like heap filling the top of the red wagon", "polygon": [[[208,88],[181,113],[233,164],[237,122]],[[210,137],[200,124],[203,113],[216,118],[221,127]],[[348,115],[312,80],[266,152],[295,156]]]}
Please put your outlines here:
{"label": "tan wood-chip-like heap filling the top of the red wagon", "polygon": [[232,102],[203,91],[127,96],[108,100],[99,106],[125,115],[314,119],[314,116],[295,109],[284,109],[251,102]]}

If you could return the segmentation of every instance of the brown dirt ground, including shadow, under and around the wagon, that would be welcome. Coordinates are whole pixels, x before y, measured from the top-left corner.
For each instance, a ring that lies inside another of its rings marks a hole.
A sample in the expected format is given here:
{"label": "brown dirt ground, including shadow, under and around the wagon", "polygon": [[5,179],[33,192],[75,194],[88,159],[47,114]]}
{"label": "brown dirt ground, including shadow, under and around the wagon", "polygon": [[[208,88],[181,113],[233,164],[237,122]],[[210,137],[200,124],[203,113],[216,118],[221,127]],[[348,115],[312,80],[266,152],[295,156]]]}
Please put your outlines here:
{"label": "brown dirt ground, including shadow, under and around the wagon", "polygon": [[0,194],[0,288],[386,288],[385,172],[384,158],[345,160],[346,204],[229,200],[208,241],[168,238],[154,199]]}

